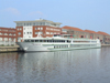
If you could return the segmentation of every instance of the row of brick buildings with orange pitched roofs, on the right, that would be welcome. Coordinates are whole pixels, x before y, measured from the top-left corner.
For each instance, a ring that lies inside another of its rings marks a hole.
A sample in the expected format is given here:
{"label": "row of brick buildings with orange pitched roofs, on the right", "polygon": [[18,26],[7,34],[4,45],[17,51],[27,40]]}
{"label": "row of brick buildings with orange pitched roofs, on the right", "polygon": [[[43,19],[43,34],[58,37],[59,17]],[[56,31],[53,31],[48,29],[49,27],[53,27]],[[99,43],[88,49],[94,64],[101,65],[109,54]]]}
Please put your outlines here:
{"label": "row of brick buildings with orange pitched roofs, on the right", "polygon": [[62,34],[70,34],[77,39],[99,39],[102,44],[110,44],[110,34],[101,31],[81,30],[75,27],[63,27]]}

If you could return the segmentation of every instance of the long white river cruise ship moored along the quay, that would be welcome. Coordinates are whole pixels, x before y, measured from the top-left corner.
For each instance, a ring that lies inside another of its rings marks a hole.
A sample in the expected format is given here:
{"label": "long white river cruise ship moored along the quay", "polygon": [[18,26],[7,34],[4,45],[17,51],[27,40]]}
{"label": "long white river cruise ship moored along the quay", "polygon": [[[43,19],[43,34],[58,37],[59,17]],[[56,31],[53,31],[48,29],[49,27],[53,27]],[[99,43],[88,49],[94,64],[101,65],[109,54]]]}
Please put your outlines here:
{"label": "long white river cruise ship moored along the quay", "polygon": [[25,38],[23,42],[16,42],[16,44],[25,52],[91,49],[101,46],[99,39],[70,39],[61,35],[54,35],[53,38]]}

